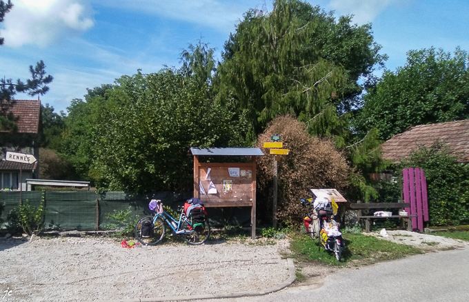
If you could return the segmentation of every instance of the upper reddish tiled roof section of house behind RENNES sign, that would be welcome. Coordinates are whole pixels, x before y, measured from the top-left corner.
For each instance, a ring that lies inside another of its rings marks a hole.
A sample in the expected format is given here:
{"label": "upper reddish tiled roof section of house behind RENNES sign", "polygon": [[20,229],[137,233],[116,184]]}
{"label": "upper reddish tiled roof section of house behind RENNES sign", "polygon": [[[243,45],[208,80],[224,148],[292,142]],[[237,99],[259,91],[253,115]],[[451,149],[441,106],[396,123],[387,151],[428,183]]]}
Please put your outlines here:
{"label": "upper reddish tiled roof section of house behind RENNES sign", "polygon": [[18,133],[38,133],[39,119],[41,116],[41,101],[39,100],[14,100],[8,112],[14,117],[19,117],[16,122]]}

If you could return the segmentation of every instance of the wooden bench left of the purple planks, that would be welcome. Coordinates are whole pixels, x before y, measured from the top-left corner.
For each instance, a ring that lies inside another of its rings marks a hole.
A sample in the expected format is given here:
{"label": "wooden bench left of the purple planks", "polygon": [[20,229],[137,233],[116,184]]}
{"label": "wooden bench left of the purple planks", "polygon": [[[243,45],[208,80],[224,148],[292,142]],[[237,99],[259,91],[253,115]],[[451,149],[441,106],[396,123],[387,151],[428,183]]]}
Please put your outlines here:
{"label": "wooden bench left of the purple planks", "polygon": [[[412,217],[417,217],[417,215],[401,216],[401,215],[392,215],[392,216],[374,216],[374,215],[362,215],[361,210],[370,210],[370,209],[408,209],[406,212],[410,212],[410,203],[351,203],[350,208],[352,210],[358,210],[358,219],[366,219],[366,232],[370,232],[370,220],[371,219],[388,219],[388,218],[399,218],[401,225],[403,225],[403,219],[409,219]],[[408,220],[407,230],[412,231],[412,223]]]}

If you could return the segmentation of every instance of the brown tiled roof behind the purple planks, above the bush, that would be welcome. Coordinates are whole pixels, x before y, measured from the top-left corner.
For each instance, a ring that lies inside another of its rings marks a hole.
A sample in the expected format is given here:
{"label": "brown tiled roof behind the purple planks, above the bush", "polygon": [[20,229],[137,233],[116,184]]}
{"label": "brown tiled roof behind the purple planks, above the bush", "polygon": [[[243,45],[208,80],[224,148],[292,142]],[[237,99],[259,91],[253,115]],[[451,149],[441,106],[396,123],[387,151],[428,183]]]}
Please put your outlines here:
{"label": "brown tiled roof behind the purple planks, above the bush", "polygon": [[469,161],[469,120],[417,125],[396,134],[381,145],[383,159],[395,163],[409,156],[412,150],[430,148],[436,142],[448,145],[459,162]]}

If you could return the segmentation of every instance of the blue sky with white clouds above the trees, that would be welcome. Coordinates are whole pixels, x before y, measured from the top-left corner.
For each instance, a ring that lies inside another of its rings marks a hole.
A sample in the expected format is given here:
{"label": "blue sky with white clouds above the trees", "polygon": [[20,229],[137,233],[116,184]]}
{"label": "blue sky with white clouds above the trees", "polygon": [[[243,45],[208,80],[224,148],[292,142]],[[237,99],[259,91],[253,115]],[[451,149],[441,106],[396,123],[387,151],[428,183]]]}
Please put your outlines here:
{"label": "blue sky with white clouds above the trees", "polygon": [[[468,0],[317,0],[336,16],[354,14],[372,23],[375,41],[388,54],[386,68],[406,63],[408,50],[457,46],[469,51]],[[57,112],[86,88],[113,83],[123,74],[157,72],[179,66],[179,54],[202,38],[223,43],[249,8],[271,10],[260,0],[12,0],[0,24],[0,76],[27,79],[39,60],[54,81],[41,97]],[[17,99],[30,99],[18,94]]]}

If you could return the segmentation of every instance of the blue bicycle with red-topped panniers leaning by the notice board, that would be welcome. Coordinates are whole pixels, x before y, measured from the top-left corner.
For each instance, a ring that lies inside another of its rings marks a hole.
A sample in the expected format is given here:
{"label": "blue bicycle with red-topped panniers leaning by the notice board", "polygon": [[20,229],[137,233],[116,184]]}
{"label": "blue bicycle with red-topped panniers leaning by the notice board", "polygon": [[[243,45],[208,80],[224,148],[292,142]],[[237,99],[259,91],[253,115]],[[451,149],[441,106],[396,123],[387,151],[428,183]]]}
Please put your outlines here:
{"label": "blue bicycle with red-topped panniers leaning by the notice board", "polygon": [[[175,219],[163,209],[161,200],[152,199],[148,205],[154,215],[139,219],[135,225],[135,238],[144,245],[160,243],[166,234],[166,225],[170,227],[170,236],[179,236],[192,245],[202,244],[210,236],[210,224],[206,210],[200,199],[188,199],[178,209],[181,214]],[[165,224],[166,223],[166,224]]]}

